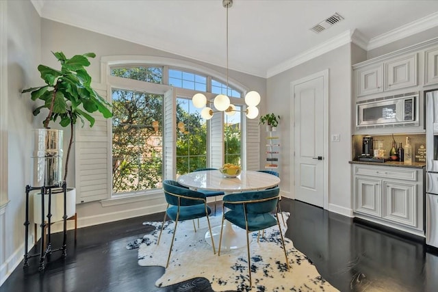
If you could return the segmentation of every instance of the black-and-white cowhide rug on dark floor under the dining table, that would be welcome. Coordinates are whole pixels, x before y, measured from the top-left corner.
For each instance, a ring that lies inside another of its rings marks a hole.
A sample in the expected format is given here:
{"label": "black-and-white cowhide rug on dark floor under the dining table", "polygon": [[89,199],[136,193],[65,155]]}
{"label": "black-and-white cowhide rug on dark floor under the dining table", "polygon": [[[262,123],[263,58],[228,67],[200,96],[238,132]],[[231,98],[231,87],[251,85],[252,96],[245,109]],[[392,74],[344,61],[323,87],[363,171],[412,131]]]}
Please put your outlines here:
{"label": "black-and-white cowhide rug on dark floor under the dining table", "polygon": [[[289,213],[283,212],[285,220]],[[279,214],[279,218],[281,215]],[[220,226],[222,216],[211,216],[211,226]],[[287,226],[281,221],[283,235]],[[143,238],[127,244],[127,249],[138,248],[138,264],[166,266],[174,222],[164,224],[162,238],[157,245],[162,222],[144,222],[155,230]],[[197,227],[197,224],[196,224]],[[211,243],[204,236],[208,230],[206,218],[194,232],[192,221],[179,222],[169,267],[155,285],[165,287],[196,277],[209,280],[214,291],[337,291],[326,282],[309,258],[294,248],[292,240],[285,239],[290,269],[285,269],[285,256],[277,226],[265,230],[265,237],[257,242],[257,232],[250,236],[253,287],[249,287],[246,244],[243,248],[213,253]],[[245,240],[246,241],[246,240]]]}

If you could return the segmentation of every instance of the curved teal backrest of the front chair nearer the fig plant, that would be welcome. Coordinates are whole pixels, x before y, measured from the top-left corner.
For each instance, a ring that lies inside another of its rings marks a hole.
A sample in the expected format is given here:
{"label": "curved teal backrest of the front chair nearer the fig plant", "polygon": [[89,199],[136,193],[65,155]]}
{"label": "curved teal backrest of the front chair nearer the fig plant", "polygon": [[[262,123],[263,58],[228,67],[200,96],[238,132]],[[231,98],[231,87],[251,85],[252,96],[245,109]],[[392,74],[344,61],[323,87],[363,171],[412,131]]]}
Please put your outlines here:
{"label": "curved teal backrest of the front chair nearer the fig plant", "polygon": [[179,198],[180,206],[192,206],[195,204],[203,204],[205,194],[198,191],[193,191],[188,187],[180,185],[177,181],[166,180],[163,181],[164,196],[168,204],[178,206]]}

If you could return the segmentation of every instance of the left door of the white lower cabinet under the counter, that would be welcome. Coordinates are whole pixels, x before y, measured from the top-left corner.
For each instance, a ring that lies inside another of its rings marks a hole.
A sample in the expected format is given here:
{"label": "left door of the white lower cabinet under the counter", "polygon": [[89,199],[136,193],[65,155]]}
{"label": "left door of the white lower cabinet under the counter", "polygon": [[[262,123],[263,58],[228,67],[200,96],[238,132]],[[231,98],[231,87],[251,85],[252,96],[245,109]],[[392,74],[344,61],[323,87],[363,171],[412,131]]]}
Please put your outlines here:
{"label": "left door of the white lower cabinet under the counter", "polygon": [[355,185],[355,211],[381,217],[381,180],[356,176]]}

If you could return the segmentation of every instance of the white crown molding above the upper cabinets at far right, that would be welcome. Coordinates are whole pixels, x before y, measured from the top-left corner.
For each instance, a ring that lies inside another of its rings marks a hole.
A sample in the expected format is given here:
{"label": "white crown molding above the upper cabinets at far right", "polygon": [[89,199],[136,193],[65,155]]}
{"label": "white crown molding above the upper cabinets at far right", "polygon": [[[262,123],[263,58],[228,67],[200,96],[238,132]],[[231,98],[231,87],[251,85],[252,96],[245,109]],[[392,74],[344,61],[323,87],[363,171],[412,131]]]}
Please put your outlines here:
{"label": "white crown molding above the upper cabinets at far right", "polygon": [[396,42],[397,40],[418,34],[436,26],[438,26],[438,12],[417,19],[407,25],[402,25],[401,27],[388,31],[385,34],[381,34],[380,36],[371,38],[368,43],[367,51],[382,47],[391,42]]}

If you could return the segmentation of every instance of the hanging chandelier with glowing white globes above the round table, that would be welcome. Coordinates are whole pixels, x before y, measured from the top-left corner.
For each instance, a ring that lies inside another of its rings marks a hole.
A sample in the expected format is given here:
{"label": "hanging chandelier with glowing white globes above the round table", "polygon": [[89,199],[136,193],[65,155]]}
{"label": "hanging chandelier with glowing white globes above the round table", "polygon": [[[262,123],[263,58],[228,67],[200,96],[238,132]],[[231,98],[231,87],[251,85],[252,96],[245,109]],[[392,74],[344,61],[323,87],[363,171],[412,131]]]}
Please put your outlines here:
{"label": "hanging chandelier with glowing white globes above the round table", "polygon": [[[224,8],[227,8],[227,91],[228,91],[228,9],[233,6],[233,0],[222,0],[222,5]],[[202,93],[194,94],[192,97],[192,103],[194,107],[203,110],[201,111],[201,116],[205,118],[205,120],[209,120],[213,118],[214,112],[224,111],[227,116],[233,116],[236,111],[238,111],[235,105],[231,105],[230,98],[225,94],[218,94],[214,98],[213,104],[216,111],[213,111],[210,107],[206,107],[207,98]],[[247,105],[246,110],[246,118],[254,119],[259,115],[259,109],[257,105],[260,103],[260,94],[255,91],[250,91],[245,95],[245,103]]]}

